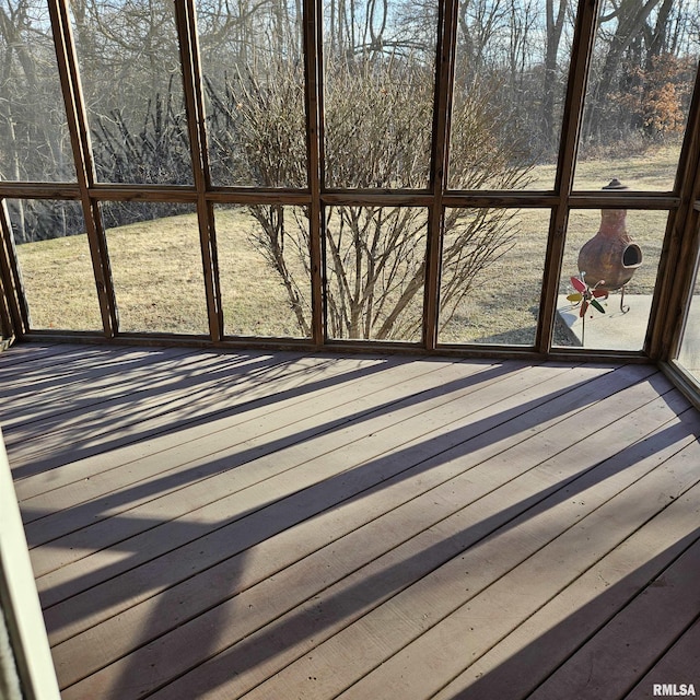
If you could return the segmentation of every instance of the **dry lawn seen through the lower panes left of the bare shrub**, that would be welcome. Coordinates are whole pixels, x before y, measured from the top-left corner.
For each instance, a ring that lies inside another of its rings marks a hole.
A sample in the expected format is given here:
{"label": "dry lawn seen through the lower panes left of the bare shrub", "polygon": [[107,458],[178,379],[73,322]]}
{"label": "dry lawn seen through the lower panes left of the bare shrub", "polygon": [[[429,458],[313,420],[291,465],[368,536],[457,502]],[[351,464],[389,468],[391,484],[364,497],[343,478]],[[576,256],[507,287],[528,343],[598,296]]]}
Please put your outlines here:
{"label": "dry lawn seen through the lower panes left of the bare shrub", "polygon": [[[215,221],[226,332],[298,336],[283,285],[249,241],[253,219],[222,209]],[[106,235],[121,331],[209,332],[196,214]],[[34,328],[102,327],[85,235],[26,243],[18,257]]]}

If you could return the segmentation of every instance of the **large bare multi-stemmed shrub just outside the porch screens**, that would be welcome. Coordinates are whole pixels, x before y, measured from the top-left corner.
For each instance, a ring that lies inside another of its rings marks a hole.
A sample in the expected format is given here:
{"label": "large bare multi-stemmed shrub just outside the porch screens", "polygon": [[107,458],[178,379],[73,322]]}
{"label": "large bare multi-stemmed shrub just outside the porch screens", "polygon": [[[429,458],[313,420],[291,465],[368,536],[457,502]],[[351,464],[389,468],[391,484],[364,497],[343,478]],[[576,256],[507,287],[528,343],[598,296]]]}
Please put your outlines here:
{"label": "large bare multi-stemmed shrub just outside the porch screens", "polygon": [[[259,74],[259,73],[258,73]],[[225,98],[212,98],[218,162],[228,182],[304,186],[303,114],[290,108],[303,89],[300,69],[278,67],[264,81],[237,74]],[[425,188],[430,182],[432,68],[395,58],[327,66],[325,184],[359,189]],[[491,105],[498,85],[456,95],[451,184],[513,188],[526,177],[526,153],[508,138],[508,115]],[[250,236],[279,273],[304,334],[310,328],[308,221],[281,206],[253,206]],[[442,319],[476,277],[513,242],[506,210],[451,210],[444,219]],[[420,337],[428,210],[334,206],[324,209],[326,320],[334,338]],[[300,272],[302,277],[300,278]]]}

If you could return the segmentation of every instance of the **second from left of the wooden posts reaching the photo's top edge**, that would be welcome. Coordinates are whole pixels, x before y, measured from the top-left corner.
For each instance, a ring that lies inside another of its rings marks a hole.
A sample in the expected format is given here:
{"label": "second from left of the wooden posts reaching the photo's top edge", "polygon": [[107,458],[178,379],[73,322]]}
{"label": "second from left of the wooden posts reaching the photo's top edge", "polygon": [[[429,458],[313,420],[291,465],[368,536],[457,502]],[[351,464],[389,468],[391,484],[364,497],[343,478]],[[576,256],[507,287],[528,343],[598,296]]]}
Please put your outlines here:
{"label": "second from left of the wooden posts reaching the photo's top edge", "polygon": [[194,0],[175,0],[175,21],[183,69],[189,149],[195,188],[197,189],[197,221],[199,224],[199,243],[207,295],[209,334],[213,341],[220,341],[223,337],[223,307],[221,303],[213,205],[207,201],[207,191],[211,188],[211,177],[207,154],[205,97]]}

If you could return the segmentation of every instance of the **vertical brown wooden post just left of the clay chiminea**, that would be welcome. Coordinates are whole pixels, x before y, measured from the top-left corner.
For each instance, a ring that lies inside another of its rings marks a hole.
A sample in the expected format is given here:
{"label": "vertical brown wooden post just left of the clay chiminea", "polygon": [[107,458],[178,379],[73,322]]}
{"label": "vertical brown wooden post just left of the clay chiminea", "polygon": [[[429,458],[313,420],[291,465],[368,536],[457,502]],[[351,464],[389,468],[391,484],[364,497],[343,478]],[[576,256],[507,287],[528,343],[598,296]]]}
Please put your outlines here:
{"label": "vertical brown wooden post just left of the clay chiminea", "polygon": [[579,135],[583,119],[584,95],[598,16],[598,2],[599,0],[583,0],[580,2],[573,35],[571,67],[555,180],[558,202],[552,209],[549,222],[539,319],[535,338],[536,349],[542,353],[549,352],[553,336],[559,278],[564,253],[565,231],[569,223],[569,199],[573,188]]}

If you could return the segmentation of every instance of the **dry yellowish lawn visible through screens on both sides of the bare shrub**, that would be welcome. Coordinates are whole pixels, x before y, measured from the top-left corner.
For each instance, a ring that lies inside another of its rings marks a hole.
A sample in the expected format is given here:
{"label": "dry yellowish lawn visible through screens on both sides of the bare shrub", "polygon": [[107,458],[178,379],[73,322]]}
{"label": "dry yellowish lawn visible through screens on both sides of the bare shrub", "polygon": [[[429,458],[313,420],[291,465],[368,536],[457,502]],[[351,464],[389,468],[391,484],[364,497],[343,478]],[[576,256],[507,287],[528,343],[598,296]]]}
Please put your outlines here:
{"label": "dry yellowish lawn visible through screens on both sides of the bare shrub", "polygon": [[[625,160],[582,161],[576,187],[599,189],[619,177],[633,189],[673,187],[677,149]],[[550,188],[553,166],[539,166],[530,188]],[[666,212],[629,211],[628,230],[644,255],[629,292],[653,291]],[[560,293],[571,291],[580,247],[598,230],[599,211],[573,211],[567,232]],[[442,342],[530,345],[534,341],[549,210],[516,212],[514,246],[483,270],[477,289],[441,331]],[[215,214],[228,335],[300,335],[287,292],[250,241],[257,225],[244,208]],[[195,214],[107,231],[122,331],[207,334],[207,308]],[[98,329],[101,318],[84,235],[18,246],[34,328]]]}

